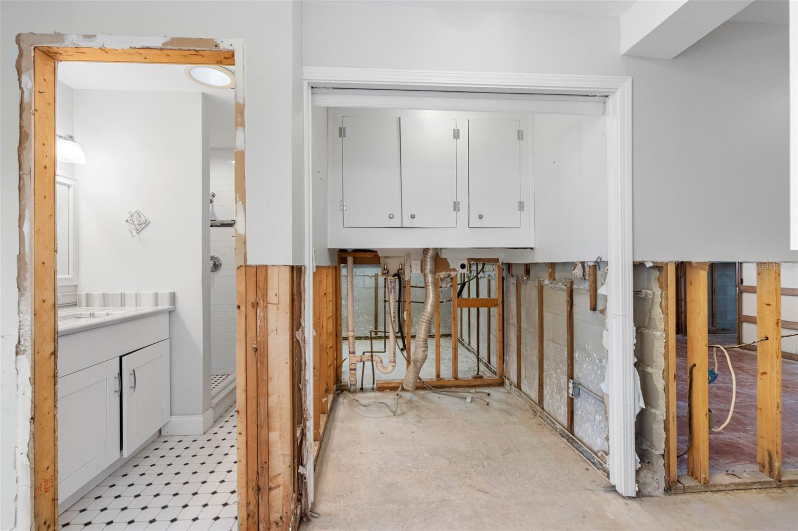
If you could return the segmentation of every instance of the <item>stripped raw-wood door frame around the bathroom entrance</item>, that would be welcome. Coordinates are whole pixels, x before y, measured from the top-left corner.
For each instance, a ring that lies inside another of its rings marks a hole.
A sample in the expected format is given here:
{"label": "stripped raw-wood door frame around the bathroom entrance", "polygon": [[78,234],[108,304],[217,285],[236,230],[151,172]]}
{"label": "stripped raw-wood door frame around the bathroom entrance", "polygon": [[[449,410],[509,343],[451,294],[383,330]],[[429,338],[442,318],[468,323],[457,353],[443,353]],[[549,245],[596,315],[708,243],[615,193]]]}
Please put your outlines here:
{"label": "stripped raw-wood door frame around the bathroom entrance", "polygon": [[[32,376],[30,500],[34,529],[58,528],[57,478],[57,281],[55,249],[55,99],[60,61],[178,65],[235,65],[236,138],[244,137],[243,58],[238,41],[201,38],[18,35],[19,134],[19,341]],[[153,46],[158,41],[160,45]],[[136,45],[140,43],[140,45]],[[243,141],[235,149],[235,196],[244,204]],[[237,222],[238,223],[238,222]],[[235,265],[246,263],[243,219],[235,230]],[[245,368],[238,367],[238,380]],[[24,416],[24,415],[20,415]],[[243,419],[239,419],[239,423]],[[240,428],[240,424],[239,424]],[[25,484],[25,478],[18,483]]]}

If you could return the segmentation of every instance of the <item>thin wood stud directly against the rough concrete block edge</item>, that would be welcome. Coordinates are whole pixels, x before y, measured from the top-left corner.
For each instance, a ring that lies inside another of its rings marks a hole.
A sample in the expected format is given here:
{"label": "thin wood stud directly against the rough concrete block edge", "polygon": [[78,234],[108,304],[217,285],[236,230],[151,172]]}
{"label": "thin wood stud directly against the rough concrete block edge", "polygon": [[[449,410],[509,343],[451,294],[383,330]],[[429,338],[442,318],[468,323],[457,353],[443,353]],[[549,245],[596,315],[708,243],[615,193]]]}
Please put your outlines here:
{"label": "thin wood stud directly against the rough concrete block edge", "polygon": [[660,308],[665,318],[665,486],[675,486],[676,468],[676,264],[668,262],[660,268],[659,286],[662,290]]}

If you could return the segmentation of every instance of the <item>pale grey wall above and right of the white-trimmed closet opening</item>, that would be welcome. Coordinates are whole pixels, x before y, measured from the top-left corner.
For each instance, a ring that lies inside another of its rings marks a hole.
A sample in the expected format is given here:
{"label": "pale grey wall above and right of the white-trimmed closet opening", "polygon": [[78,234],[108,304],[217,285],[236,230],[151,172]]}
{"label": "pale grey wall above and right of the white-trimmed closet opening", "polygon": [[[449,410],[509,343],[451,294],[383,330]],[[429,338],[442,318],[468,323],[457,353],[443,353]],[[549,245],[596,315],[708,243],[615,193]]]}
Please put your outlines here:
{"label": "pale grey wall above and right of the white-trimmed closet opening", "polygon": [[634,257],[798,256],[786,25],[728,22],[657,60],[620,56],[616,18],[306,2],[304,20],[306,65],[631,76]]}

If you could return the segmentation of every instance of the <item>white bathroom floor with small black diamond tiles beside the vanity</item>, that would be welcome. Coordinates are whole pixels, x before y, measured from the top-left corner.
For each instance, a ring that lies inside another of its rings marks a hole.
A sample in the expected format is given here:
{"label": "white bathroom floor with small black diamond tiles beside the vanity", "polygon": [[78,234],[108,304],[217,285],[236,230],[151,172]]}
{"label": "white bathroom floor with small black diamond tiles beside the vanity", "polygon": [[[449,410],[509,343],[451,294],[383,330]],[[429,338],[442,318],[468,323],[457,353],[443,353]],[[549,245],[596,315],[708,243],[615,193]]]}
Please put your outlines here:
{"label": "white bathroom floor with small black diamond tiles beside the vanity", "polygon": [[235,406],[204,435],[159,437],[61,514],[64,531],[237,529]]}

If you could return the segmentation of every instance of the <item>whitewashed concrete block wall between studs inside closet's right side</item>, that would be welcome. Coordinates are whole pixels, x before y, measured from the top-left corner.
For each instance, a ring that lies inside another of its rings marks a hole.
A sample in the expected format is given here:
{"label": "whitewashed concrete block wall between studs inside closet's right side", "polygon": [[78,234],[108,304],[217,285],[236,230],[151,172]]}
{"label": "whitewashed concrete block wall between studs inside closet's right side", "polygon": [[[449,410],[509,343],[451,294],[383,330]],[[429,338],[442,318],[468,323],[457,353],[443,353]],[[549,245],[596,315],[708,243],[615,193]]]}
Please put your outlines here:
{"label": "whitewashed concrete block wall between studs inside closet's right side", "polygon": [[[538,401],[538,295],[537,281],[543,280],[543,409],[563,426],[567,425],[567,321],[566,281],[574,281],[574,379],[602,395],[606,350],[602,344],[606,318],[606,297],[599,294],[596,311],[590,310],[589,283],[573,276],[572,262],[555,264],[555,280],[548,280],[545,263],[531,264],[529,278],[523,264],[511,266],[512,276],[504,280],[504,374],[515,385],[516,368],[516,283],[520,283],[521,382],[520,388],[533,402]],[[606,262],[599,263],[599,286],[606,278]],[[595,453],[607,451],[607,420],[604,405],[583,393],[574,400],[574,435]]]}

